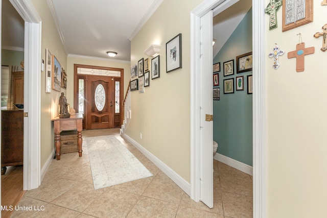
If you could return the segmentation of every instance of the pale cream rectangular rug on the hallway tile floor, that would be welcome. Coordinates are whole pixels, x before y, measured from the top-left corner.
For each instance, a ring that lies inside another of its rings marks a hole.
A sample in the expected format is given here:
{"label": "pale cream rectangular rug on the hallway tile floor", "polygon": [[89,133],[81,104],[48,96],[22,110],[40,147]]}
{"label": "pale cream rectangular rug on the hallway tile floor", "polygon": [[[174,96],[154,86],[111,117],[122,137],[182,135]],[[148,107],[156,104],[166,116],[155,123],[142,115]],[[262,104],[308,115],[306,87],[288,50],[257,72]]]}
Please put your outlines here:
{"label": "pale cream rectangular rug on the hallway tile floor", "polygon": [[115,136],[85,140],[95,189],[153,176]]}

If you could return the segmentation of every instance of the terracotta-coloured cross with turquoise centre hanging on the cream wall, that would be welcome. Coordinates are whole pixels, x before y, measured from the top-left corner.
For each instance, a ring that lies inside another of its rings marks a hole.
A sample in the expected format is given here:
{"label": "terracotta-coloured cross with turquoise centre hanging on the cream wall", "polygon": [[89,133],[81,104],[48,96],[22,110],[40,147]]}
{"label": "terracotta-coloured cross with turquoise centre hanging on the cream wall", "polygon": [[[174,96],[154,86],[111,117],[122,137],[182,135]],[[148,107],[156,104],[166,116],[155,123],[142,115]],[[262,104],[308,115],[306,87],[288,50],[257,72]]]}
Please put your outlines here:
{"label": "terracotta-coloured cross with turquoise centre hanging on the cream wall", "polygon": [[301,42],[296,45],[296,50],[287,53],[287,58],[296,58],[296,72],[305,70],[305,55],[315,53],[315,47],[305,48],[305,43]]}

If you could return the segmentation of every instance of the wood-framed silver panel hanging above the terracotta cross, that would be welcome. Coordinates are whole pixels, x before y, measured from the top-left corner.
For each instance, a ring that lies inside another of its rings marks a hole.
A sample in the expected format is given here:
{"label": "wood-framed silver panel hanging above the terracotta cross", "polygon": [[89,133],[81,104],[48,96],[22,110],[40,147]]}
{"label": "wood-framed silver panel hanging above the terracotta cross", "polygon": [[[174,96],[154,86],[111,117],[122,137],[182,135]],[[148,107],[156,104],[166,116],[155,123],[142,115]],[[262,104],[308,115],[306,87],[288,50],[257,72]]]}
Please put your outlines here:
{"label": "wood-framed silver panel hanging above the terracotta cross", "polygon": [[282,31],[288,31],[313,21],[313,0],[283,0]]}

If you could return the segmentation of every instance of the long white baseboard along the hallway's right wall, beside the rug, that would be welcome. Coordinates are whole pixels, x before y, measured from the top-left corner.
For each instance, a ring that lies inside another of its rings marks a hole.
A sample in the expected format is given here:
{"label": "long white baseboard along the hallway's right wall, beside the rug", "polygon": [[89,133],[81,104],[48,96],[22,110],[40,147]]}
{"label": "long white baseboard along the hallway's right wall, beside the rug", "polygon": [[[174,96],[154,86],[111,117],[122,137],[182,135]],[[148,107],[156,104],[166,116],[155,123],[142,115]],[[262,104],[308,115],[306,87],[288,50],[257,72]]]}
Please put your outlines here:
{"label": "long white baseboard along the hallway's right wall, beside the rug", "polygon": [[164,162],[159,160],[156,156],[151,154],[148,150],[143,148],[141,144],[137,143],[131,137],[126,134],[122,134],[126,140],[128,140],[135,148],[137,148],[142,154],[144,154],[149,160],[154,163],[162,172],[164,172],[171,180],[173,180],[186,194],[191,195],[191,184],[180,177],[173,169],[167,166]]}

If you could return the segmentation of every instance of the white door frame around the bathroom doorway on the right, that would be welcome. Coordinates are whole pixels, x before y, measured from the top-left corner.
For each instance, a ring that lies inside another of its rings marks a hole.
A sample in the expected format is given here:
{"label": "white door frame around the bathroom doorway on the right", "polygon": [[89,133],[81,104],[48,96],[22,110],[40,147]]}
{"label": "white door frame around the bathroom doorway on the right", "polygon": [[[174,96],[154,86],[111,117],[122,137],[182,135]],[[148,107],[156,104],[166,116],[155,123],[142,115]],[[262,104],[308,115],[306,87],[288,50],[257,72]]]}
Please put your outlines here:
{"label": "white door frame around the bathroom doorway on the right", "polygon": [[[200,17],[231,0],[206,0],[191,12],[191,199],[200,199]],[[252,0],[253,217],[266,217],[265,1]]]}

